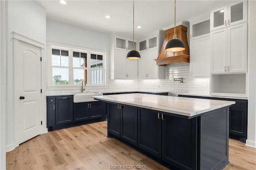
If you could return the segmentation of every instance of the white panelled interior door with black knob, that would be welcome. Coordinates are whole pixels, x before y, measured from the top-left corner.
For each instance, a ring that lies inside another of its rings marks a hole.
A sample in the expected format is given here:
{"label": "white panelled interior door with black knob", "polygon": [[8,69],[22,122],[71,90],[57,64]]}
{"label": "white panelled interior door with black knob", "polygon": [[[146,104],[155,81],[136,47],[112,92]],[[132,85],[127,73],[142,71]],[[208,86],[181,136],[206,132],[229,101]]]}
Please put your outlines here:
{"label": "white panelled interior door with black knob", "polygon": [[41,48],[15,40],[15,143],[41,133]]}

